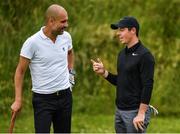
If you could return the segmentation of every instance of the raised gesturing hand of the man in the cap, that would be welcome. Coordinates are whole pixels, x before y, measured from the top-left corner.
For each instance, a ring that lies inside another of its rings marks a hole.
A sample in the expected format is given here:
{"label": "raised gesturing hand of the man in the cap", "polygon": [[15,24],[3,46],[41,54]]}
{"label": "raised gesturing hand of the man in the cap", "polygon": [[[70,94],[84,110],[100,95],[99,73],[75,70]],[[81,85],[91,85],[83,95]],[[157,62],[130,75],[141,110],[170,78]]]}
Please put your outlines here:
{"label": "raised gesturing hand of the man in the cap", "polygon": [[97,74],[99,74],[101,76],[104,76],[106,70],[104,68],[104,65],[103,65],[102,61],[99,58],[97,58],[96,61],[91,59],[91,62],[93,64],[94,72],[96,72]]}

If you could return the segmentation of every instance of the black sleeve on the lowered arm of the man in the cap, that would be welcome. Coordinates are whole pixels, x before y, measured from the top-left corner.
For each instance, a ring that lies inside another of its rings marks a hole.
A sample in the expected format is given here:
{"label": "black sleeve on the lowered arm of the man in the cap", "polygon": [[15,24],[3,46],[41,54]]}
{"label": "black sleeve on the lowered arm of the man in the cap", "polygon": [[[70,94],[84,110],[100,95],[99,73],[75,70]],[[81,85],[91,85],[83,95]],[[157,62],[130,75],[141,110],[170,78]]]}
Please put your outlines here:
{"label": "black sleeve on the lowered arm of the man in the cap", "polygon": [[154,65],[155,61],[151,53],[144,54],[140,63],[141,81],[143,85],[141,102],[144,104],[149,104],[151,99],[154,82]]}

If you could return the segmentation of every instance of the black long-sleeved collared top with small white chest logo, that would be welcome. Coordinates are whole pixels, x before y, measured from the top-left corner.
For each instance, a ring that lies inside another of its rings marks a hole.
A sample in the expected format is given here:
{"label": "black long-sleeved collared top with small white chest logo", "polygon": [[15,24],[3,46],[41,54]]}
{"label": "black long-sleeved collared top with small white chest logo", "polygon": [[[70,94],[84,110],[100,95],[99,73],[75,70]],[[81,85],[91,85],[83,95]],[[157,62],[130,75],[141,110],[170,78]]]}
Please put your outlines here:
{"label": "black long-sleeved collared top with small white chest logo", "polygon": [[121,110],[138,109],[149,104],[153,89],[154,57],[139,41],[118,55],[117,75],[109,72],[107,80],[116,85],[116,105]]}

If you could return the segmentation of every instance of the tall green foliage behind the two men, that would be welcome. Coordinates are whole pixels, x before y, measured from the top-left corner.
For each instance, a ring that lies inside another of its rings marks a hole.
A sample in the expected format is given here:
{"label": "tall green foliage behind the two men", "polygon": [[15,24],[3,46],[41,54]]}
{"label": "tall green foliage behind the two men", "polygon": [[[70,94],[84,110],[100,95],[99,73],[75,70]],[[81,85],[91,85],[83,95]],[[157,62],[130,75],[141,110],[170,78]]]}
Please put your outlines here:
{"label": "tall green foliage behind the two men", "polygon": [[[1,0],[0,2],[0,116],[8,116],[14,100],[13,77],[19,53],[27,37],[44,23],[44,12],[52,3],[64,6],[75,51],[76,86],[74,113],[112,114],[115,87],[95,75],[91,58],[101,58],[116,73],[118,52],[124,47],[110,24],[123,16],[140,22],[140,39],[156,59],[151,104],[160,115],[180,112],[180,1],[179,0]],[[24,81],[23,109],[31,108],[29,72]]]}

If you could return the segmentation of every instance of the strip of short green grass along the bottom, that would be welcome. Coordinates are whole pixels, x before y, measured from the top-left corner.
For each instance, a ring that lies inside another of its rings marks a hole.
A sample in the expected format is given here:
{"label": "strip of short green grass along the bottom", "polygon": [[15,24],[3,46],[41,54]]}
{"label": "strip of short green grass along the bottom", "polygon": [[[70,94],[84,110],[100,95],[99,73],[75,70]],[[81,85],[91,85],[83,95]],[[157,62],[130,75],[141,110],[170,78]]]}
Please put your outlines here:
{"label": "strip of short green grass along the bottom", "polygon": [[[7,132],[10,119],[0,117],[0,133]],[[180,132],[180,118],[153,117],[148,127],[148,133],[178,133]],[[17,117],[14,132],[34,132],[33,114]],[[75,133],[113,133],[114,115],[74,114],[72,118],[72,132]]]}

